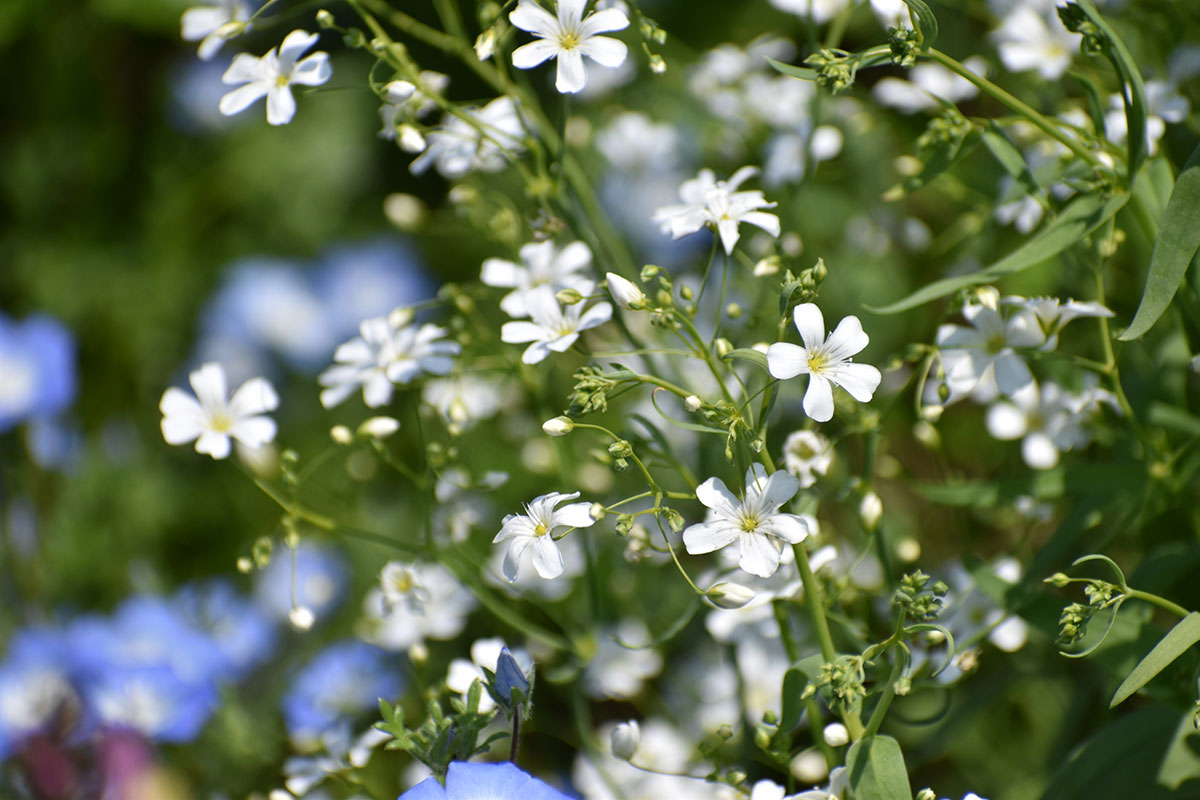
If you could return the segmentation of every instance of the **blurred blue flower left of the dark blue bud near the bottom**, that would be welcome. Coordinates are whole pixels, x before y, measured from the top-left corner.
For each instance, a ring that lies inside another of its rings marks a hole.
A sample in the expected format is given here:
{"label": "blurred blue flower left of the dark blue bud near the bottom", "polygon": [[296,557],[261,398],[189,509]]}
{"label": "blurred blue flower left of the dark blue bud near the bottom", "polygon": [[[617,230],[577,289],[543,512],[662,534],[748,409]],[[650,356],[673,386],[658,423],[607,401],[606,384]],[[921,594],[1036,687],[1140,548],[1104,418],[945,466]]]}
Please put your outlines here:
{"label": "blurred blue flower left of the dark blue bud near the bottom", "polygon": [[324,650],[300,670],[283,697],[288,733],[313,742],[346,715],[392,700],[403,691],[394,660],[379,648],[346,639]]}

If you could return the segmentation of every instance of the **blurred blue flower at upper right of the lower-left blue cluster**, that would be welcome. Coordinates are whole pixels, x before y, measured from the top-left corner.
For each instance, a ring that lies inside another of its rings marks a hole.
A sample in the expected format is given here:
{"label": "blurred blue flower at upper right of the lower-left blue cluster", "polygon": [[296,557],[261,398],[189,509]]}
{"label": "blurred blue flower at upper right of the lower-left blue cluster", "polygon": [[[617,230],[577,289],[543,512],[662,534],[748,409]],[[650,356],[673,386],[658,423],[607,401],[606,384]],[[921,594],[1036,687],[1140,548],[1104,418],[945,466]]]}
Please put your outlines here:
{"label": "blurred blue flower at upper right of the lower-left blue cluster", "polygon": [[193,583],[174,599],[185,621],[211,637],[234,678],[242,678],[275,651],[275,622],[228,581]]}

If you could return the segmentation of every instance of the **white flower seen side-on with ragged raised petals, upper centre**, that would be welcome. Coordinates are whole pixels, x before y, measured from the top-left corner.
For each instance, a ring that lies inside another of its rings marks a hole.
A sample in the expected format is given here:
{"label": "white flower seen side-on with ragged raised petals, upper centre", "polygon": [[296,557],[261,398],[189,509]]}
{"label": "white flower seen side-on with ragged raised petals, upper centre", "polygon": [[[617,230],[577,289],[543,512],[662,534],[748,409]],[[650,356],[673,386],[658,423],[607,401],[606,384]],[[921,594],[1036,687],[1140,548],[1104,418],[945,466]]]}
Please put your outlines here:
{"label": "white flower seen side-on with ragged raised petals, upper centre", "polygon": [[712,225],[721,237],[725,253],[733,252],[738,242],[738,223],[749,222],[772,236],[779,236],[779,217],[758,209],[773,209],[763,193],[755,190],[738,192],[737,188],[756,175],[755,167],[743,167],[727,181],[719,181],[712,169],[700,174],[679,187],[680,205],[665,205],[654,212],[653,219],[665,234],[679,239],[694,234],[704,225]]}

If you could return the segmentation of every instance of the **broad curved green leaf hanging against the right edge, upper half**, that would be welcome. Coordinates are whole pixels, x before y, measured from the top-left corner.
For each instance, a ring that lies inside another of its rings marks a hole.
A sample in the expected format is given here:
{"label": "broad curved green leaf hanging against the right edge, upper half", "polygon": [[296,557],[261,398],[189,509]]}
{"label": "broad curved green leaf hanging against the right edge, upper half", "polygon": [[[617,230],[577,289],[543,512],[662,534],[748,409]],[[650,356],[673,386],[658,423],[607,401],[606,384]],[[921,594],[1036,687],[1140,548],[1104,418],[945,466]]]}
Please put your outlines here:
{"label": "broad curved green leaf hanging against the right edge, upper half", "polygon": [[1133,323],[1118,338],[1135,339],[1148,331],[1183,283],[1188,264],[1200,251],[1200,145],[1175,179],[1175,190],[1166,201],[1158,240],[1150,254],[1150,275]]}

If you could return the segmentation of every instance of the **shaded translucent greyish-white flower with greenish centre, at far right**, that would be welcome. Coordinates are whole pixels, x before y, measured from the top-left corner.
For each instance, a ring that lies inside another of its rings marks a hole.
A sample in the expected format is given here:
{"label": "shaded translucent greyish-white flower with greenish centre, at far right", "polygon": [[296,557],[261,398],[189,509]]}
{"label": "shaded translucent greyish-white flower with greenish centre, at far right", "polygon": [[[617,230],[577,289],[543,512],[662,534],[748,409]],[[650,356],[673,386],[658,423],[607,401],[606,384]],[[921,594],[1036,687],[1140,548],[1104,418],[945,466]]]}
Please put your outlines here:
{"label": "shaded translucent greyish-white flower with greenish centre, at far right", "polygon": [[1004,319],[995,308],[968,303],[962,315],[971,327],[942,325],[937,329],[937,345],[942,348],[952,398],[970,393],[989,374],[1007,396],[1033,381],[1028,365],[1014,350],[1045,343],[1045,335],[1032,312],[1019,309]]}

